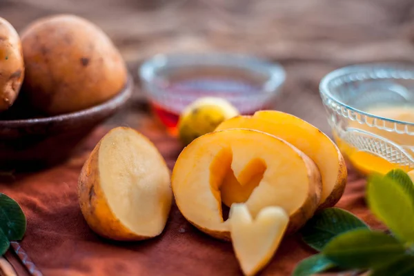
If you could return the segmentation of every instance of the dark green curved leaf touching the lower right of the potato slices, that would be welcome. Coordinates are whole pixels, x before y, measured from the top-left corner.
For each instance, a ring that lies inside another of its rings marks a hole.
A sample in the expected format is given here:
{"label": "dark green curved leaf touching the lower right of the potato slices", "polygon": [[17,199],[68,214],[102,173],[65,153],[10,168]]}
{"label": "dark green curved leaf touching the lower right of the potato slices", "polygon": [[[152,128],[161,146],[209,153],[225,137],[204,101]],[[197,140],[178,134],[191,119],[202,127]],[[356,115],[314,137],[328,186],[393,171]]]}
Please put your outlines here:
{"label": "dark green curved leaf touching the lower right of the potato slices", "polygon": [[302,239],[315,250],[322,250],[333,237],[357,228],[368,228],[361,219],[340,208],[316,213],[301,230]]}

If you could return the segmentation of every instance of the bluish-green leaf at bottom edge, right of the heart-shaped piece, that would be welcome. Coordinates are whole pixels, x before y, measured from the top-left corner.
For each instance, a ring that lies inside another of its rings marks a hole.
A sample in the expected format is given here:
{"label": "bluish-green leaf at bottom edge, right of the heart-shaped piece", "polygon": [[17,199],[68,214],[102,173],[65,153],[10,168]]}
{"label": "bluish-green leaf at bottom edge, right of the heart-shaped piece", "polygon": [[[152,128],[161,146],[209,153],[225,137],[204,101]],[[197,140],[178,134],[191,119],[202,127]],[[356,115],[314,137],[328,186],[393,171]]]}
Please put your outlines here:
{"label": "bluish-green leaf at bottom edge, right of the heart-shaped piece", "polygon": [[306,259],[303,259],[302,262],[299,262],[293,271],[292,276],[308,276],[315,273],[320,273],[325,270],[334,268],[335,263],[331,262],[329,259],[322,254],[316,254]]}

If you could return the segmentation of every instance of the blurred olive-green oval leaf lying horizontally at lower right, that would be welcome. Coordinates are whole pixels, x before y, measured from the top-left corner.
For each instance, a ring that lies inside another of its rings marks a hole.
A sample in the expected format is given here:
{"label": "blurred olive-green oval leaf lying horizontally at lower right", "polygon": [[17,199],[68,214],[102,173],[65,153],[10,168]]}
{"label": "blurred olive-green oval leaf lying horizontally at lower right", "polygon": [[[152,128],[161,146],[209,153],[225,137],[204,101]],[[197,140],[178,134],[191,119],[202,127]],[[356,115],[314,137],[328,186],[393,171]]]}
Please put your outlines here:
{"label": "blurred olive-green oval leaf lying horizontally at lower right", "polygon": [[385,233],[357,229],[334,237],[322,253],[343,268],[375,268],[404,255],[405,248]]}

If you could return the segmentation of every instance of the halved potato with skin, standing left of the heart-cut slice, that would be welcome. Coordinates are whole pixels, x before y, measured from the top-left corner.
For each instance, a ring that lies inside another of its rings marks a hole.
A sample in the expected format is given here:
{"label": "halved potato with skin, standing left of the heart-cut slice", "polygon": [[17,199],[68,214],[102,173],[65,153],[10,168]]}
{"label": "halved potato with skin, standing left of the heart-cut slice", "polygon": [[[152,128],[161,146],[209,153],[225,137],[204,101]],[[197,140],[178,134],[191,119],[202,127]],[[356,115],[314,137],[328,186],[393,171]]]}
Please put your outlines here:
{"label": "halved potato with skin, standing left of the heart-cut slice", "polygon": [[148,239],[164,230],[172,201],[170,171],[136,130],[110,130],[83,165],[78,188],[83,217],[102,237]]}

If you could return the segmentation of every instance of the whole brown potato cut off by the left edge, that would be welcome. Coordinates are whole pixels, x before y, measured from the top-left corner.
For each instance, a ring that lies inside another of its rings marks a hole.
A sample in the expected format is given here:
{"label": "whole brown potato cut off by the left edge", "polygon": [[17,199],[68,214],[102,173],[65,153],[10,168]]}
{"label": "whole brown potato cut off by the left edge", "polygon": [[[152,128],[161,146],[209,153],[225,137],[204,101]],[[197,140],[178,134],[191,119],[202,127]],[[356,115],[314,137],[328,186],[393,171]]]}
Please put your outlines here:
{"label": "whole brown potato cut off by the left edge", "polygon": [[19,95],[24,61],[19,34],[0,17],[0,112],[8,110]]}

